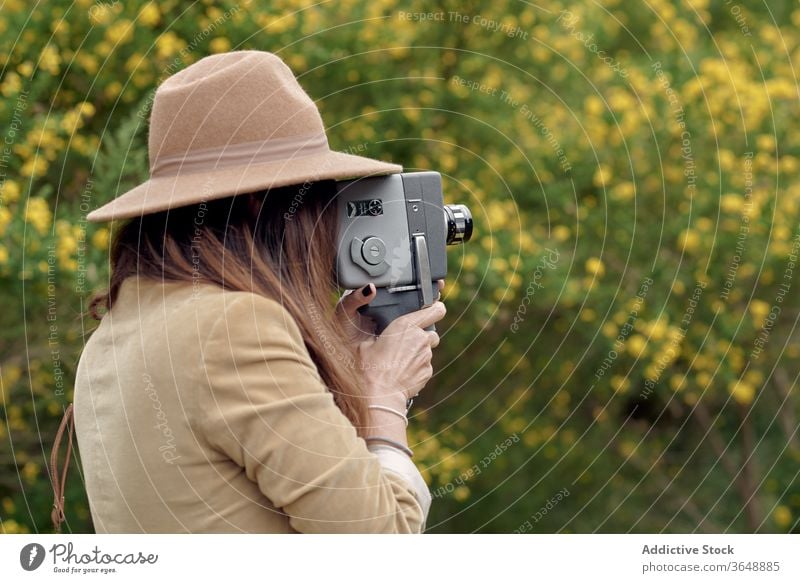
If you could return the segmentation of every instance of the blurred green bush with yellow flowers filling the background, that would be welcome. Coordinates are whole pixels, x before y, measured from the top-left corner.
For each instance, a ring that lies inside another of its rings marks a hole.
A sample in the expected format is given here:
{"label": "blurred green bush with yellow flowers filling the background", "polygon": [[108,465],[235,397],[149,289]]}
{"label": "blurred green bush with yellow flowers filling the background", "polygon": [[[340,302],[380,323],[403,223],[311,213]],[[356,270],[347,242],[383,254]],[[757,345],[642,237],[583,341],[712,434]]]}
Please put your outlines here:
{"label": "blurred green bush with yellow flowers filling the background", "polygon": [[51,528],[108,269],[86,213],[146,176],[160,80],[260,49],[334,148],[475,215],[412,422],[432,531],[797,531],[799,26],[788,0],[7,0],[0,529]]}

